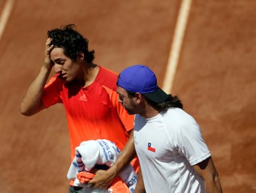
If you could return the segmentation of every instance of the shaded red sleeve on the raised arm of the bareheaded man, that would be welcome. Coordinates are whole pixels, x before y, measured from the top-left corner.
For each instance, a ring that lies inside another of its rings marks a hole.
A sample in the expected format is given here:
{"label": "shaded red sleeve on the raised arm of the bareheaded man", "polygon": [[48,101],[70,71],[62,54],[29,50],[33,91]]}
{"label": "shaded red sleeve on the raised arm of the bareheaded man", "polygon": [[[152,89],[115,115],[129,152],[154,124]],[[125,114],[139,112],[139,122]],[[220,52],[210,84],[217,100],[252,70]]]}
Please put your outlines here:
{"label": "shaded red sleeve on the raised arm of the bareheaded man", "polygon": [[42,101],[46,108],[56,103],[62,103],[60,90],[62,88],[62,80],[57,77],[51,78],[44,87]]}

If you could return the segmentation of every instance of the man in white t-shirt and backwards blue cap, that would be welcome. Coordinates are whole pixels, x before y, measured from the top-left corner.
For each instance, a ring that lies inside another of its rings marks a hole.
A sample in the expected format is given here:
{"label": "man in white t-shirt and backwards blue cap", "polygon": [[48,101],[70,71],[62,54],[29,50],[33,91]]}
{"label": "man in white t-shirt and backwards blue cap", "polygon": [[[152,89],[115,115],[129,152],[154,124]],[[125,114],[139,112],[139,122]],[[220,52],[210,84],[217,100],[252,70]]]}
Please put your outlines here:
{"label": "man in white t-shirt and backwards blue cap", "polygon": [[[120,73],[117,85],[119,102],[128,114],[136,114],[134,132],[116,163],[101,175],[116,175],[136,150],[147,193],[222,192],[199,125],[177,96],[158,88],[154,72],[133,65]],[[97,186],[102,179],[99,175],[91,183]]]}

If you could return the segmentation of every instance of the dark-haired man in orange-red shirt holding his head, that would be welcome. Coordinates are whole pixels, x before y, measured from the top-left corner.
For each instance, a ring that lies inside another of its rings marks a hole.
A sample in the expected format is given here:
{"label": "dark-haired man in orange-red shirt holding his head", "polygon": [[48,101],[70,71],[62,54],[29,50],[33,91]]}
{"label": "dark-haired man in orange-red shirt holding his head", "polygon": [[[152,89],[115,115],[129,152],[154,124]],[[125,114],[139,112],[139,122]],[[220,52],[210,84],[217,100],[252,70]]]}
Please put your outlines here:
{"label": "dark-haired man in orange-red shirt holding his head", "polygon": [[[93,63],[94,51],[89,51],[88,40],[74,27],[48,31],[44,64],[20,105],[21,113],[31,116],[63,103],[71,160],[82,141],[107,139],[122,150],[134,126],[134,116],[118,103],[118,74]],[[52,68],[57,75],[46,83]],[[137,159],[132,164],[138,171]],[[79,189],[71,183],[69,192],[82,192]]]}

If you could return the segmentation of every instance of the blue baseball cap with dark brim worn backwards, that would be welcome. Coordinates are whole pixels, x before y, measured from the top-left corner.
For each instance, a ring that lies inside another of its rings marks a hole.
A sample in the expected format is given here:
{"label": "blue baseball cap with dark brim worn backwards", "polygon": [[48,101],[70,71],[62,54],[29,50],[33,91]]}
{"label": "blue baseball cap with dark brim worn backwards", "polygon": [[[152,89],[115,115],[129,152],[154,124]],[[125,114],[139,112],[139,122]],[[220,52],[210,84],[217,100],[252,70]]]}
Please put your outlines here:
{"label": "blue baseball cap with dark brim worn backwards", "polygon": [[117,85],[129,92],[139,92],[156,103],[163,103],[168,98],[168,94],[158,87],[154,72],[145,65],[132,65],[123,70]]}

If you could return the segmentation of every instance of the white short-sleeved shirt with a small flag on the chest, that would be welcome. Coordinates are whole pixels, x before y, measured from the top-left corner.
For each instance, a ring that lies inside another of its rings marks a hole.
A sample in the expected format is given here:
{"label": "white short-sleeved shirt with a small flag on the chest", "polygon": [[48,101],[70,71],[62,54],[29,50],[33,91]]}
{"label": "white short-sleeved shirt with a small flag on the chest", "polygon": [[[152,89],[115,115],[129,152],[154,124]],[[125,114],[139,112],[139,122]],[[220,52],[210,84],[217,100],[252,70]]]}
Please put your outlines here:
{"label": "white short-sleeved shirt with a small flag on the chest", "polygon": [[151,119],[136,114],[134,142],[147,193],[205,192],[194,171],[210,156],[199,125],[179,108],[170,108]]}

